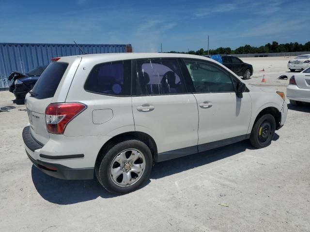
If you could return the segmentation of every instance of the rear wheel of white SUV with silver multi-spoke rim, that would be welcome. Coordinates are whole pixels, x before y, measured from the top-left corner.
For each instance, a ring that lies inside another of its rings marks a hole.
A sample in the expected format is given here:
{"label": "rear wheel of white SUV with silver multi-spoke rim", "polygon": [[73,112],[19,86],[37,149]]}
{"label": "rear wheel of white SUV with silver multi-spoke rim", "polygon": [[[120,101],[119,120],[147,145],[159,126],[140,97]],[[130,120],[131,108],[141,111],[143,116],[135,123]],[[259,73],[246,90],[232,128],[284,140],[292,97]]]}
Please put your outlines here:
{"label": "rear wheel of white SUV with silver multi-spoke rim", "polygon": [[140,188],[152,170],[150,148],[139,140],[113,145],[101,157],[95,174],[99,183],[113,194],[126,194]]}

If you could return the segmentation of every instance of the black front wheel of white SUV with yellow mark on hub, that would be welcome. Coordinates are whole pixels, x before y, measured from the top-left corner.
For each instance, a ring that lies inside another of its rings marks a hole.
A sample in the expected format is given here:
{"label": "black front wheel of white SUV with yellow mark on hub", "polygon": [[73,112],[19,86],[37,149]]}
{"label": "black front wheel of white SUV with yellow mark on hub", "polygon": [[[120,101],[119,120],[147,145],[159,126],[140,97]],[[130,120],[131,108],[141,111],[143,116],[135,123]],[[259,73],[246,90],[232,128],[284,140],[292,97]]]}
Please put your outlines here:
{"label": "black front wheel of white SUV with yellow mark on hub", "polygon": [[261,116],[255,123],[251,135],[250,143],[256,148],[263,148],[271,144],[276,131],[276,120],[274,116],[266,114]]}

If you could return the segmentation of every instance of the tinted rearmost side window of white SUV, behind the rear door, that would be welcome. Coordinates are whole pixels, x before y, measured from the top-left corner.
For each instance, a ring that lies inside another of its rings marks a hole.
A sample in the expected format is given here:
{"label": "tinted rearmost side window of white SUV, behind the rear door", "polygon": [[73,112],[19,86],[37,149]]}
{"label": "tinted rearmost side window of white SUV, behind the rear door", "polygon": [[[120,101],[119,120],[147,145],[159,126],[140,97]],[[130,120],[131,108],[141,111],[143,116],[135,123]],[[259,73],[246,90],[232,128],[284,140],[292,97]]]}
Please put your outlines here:
{"label": "tinted rearmost side window of white SUV, behind the rear door", "polygon": [[130,95],[131,61],[116,61],[97,64],[89,74],[84,89],[107,95]]}

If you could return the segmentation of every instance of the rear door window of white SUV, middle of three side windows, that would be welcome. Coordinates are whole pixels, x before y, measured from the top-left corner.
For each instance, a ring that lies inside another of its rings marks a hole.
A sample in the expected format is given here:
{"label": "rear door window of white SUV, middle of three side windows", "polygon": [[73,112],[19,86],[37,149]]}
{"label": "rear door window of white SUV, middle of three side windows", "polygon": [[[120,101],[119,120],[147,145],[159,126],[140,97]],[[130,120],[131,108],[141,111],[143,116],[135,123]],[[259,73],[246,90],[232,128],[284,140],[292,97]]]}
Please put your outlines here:
{"label": "rear door window of white SUV, middle of three side windows", "polygon": [[137,61],[137,95],[185,93],[176,60]]}

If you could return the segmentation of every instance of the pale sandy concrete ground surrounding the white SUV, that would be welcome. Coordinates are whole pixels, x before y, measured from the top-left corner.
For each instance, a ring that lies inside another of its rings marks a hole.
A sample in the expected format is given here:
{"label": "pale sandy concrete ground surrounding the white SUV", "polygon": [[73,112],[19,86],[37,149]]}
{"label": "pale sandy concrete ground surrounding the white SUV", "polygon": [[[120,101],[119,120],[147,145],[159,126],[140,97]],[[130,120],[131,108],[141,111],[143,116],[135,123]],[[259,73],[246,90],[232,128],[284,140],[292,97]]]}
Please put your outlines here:
{"label": "pale sandy concrete ground surrounding the white SUV", "polygon": [[[250,60],[255,73],[247,82],[261,84],[264,68],[267,83],[277,85],[274,77],[286,72],[284,58]],[[21,137],[25,106],[12,100],[0,92],[0,107],[16,106],[0,112],[1,232],[310,231],[309,104],[289,105],[266,148],[244,141],[156,163],[143,188],[114,196],[96,180],[60,180],[33,167]]]}

